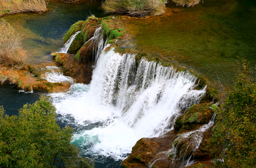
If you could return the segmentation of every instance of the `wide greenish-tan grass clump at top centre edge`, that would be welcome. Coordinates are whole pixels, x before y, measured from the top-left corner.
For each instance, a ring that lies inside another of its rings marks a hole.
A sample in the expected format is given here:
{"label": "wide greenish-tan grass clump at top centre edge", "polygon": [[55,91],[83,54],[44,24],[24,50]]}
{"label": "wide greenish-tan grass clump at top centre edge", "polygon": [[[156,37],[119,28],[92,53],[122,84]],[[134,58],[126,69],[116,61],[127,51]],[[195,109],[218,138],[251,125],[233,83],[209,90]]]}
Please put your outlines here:
{"label": "wide greenish-tan grass clump at top centre edge", "polygon": [[167,0],[106,0],[102,4],[105,12],[129,13],[138,16],[158,16],[165,13]]}

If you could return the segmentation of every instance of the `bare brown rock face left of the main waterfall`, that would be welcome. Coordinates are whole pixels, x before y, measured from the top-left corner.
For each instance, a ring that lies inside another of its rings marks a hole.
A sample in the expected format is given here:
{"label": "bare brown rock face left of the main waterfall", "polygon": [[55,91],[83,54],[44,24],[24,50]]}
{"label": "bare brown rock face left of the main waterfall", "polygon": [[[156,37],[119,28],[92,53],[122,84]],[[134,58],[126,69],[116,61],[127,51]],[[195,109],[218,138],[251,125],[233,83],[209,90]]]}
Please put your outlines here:
{"label": "bare brown rock face left of the main waterfall", "polygon": [[89,84],[92,78],[92,63],[78,62],[74,54],[55,53],[55,61],[62,65],[63,74],[74,79],[76,83]]}

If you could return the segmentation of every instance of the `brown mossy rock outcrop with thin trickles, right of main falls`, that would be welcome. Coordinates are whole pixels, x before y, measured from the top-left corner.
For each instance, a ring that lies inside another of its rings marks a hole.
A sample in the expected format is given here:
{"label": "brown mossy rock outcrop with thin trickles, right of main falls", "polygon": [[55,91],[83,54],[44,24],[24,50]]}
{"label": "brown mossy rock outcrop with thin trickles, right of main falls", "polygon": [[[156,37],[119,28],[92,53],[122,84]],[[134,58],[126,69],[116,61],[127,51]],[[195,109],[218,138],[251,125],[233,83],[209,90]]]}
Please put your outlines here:
{"label": "brown mossy rock outcrop with thin trickles, right of main falls", "polygon": [[[122,162],[122,166],[176,168],[184,166],[184,160],[190,156],[198,161],[208,161],[207,165],[211,165],[210,149],[205,147],[211,137],[211,129],[197,130],[211,120],[216,108],[217,106],[209,103],[191,106],[176,120],[174,130],[158,138],[141,138],[137,141],[130,156]],[[189,132],[191,134],[187,134]],[[198,139],[198,136],[202,139]]]}

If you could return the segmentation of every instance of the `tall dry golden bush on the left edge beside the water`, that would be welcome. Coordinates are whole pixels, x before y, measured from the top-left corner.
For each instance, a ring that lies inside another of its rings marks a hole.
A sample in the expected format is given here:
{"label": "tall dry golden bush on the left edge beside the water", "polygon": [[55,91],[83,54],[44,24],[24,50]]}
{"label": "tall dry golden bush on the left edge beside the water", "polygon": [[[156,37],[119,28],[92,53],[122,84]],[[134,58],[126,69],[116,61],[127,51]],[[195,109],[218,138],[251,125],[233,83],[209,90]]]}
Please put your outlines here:
{"label": "tall dry golden bush on the left edge beside the water", "polygon": [[0,64],[7,64],[21,69],[25,65],[27,51],[21,46],[22,36],[6,22],[0,20]]}

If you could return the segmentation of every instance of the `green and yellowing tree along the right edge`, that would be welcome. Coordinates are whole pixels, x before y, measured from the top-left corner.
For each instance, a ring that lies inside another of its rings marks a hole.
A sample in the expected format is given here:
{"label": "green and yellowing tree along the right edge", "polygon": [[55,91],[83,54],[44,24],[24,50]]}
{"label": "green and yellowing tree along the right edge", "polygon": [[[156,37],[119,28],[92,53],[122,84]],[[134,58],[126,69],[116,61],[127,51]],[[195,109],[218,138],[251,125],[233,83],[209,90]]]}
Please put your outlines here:
{"label": "green and yellowing tree along the right edge", "polygon": [[256,166],[256,85],[253,68],[245,59],[236,67],[236,82],[226,92],[209,146],[214,167]]}

